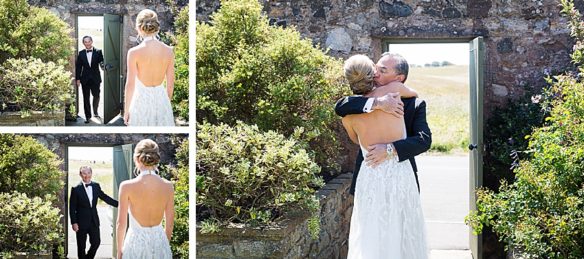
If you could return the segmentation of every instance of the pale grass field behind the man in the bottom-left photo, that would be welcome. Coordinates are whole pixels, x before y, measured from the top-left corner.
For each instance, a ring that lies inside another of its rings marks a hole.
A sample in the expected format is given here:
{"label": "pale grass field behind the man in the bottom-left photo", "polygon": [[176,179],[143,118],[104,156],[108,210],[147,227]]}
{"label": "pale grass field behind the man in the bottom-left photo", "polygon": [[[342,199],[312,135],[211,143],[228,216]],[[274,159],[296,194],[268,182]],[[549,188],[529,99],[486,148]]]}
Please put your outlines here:
{"label": "pale grass field behind the man in the bottom-left photo", "polygon": [[[93,171],[91,181],[100,183],[100,187],[105,194],[108,194],[109,196],[113,195],[113,164],[111,161],[96,161],[96,164],[93,164],[93,161],[90,163],[85,160],[69,160],[69,190],[81,181],[81,177],[79,177],[79,168],[81,168],[81,166],[91,166],[91,170]],[[67,197],[67,201],[68,200],[69,197]],[[98,205],[107,204],[98,199]]]}

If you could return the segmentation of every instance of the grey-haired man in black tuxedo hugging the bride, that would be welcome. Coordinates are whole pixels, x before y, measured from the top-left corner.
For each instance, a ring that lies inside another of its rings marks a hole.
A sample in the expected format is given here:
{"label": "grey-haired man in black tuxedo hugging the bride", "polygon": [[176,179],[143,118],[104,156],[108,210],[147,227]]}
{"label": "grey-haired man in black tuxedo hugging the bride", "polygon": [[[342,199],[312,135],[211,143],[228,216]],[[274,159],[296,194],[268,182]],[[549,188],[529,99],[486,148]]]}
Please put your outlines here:
{"label": "grey-haired man in black tuxedo hugging the bride", "polygon": [[[375,65],[375,83],[377,85],[387,85],[389,82],[405,82],[409,67],[407,61],[398,55],[385,52]],[[414,169],[416,183],[418,183],[418,168],[414,157],[426,152],[432,143],[430,128],[426,122],[426,102],[418,98],[403,98],[396,100],[398,93],[388,93],[380,98],[363,98],[350,96],[341,98],[335,106],[335,112],[341,117],[349,114],[360,114],[371,112],[375,109],[381,109],[385,112],[392,113],[396,117],[403,115],[405,122],[405,131],[407,137],[393,143],[381,143],[368,146],[372,148],[367,155],[368,166],[377,167],[381,162],[390,157],[397,156],[398,161],[409,159]],[[363,163],[363,153],[359,148],[359,155],[355,161],[355,169],[351,180],[350,194],[355,194],[355,183],[359,168]],[[420,183],[418,183],[418,191]]]}

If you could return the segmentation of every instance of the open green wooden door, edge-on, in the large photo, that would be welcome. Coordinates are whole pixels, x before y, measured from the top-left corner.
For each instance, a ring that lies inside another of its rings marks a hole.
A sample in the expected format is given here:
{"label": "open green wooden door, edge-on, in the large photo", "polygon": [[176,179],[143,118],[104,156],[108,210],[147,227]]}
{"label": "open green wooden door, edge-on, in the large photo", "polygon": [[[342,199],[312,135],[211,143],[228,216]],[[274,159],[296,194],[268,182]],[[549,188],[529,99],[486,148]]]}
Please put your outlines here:
{"label": "open green wooden door, edge-on, in the large photo", "polygon": [[[484,155],[484,143],[482,140],[482,72],[483,72],[483,39],[478,37],[470,42],[470,94],[471,94],[471,129],[470,129],[470,210],[477,210],[477,197],[475,190],[482,186],[482,156]],[[469,245],[474,259],[482,259],[482,235],[473,234],[469,228]]]}

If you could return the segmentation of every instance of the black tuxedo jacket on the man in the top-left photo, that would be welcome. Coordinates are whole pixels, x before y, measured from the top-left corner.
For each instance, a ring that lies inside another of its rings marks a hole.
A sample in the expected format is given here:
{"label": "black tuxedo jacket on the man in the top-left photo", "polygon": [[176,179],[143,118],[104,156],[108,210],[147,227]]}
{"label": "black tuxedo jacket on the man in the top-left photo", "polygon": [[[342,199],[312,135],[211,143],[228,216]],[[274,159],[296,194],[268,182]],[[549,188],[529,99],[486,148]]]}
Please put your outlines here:
{"label": "black tuxedo jacket on the man in the top-left photo", "polygon": [[79,52],[75,62],[75,80],[81,80],[81,85],[89,82],[89,75],[91,75],[91,79],[96,85],[100,85],[102,82],[100,63],[103,62],[104,55],[101,49],[96,49],[96,47],[91,47],[91,49],[93,49],[93,53],[91,54],[91,67],[87,60],[87,49]]}

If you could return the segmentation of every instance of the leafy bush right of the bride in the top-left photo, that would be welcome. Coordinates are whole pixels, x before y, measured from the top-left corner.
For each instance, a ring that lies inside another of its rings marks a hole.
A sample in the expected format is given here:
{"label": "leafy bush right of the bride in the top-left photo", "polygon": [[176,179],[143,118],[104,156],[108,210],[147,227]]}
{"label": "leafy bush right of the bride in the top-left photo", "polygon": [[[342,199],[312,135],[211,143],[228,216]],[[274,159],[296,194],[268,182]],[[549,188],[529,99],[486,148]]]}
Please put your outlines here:
{"label": "leafy bush right of the bride in the top-left photo", "polygon": [[178,10],[173,1],[167,0],[166,2],[170,6],[172,14],[175,14],[174,25],[168,32],[163,34],[163,38],[168,39],[168,43],[174,47],[175,51],[175,89],[170,103],[175,115],[188,121],[189,5],[182,10]]}

